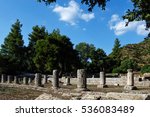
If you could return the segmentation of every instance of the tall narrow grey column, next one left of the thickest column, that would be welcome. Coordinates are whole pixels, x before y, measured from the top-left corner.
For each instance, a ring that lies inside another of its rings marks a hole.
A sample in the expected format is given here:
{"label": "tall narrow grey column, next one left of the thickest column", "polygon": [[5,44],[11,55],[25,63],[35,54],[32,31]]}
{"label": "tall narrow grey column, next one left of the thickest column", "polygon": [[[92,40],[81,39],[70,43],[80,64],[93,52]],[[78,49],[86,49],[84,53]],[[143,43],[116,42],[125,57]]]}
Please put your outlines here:
{"label": "tall narrow grey column, next one left of the thickest column", "polygon": [[59,76],[58,76],[58,70],[53,70],[52,86],[53,86],[54,89],[59,88]]}

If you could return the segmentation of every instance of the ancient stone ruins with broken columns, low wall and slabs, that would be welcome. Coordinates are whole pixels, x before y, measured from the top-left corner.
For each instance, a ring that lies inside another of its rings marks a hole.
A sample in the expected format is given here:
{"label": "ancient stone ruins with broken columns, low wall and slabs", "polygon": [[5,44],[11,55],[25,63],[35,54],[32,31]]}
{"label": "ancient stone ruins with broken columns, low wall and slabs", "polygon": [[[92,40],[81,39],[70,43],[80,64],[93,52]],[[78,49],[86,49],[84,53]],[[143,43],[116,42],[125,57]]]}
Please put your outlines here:
{"label": "ancient stone ruins with broken columns, low wall and slabs", "polygon": [[[147,79],[149,73],[144,74],[142,79],[140,79],[141,77],[141,74],[135,74],[132,69],[128,69],[127,74],[115,75],[115,77],[110,77],[110,74],[108,77],[104,71],[100,71],[98,77],[96,75],[88,77],[85,69],[78,69],[76,77],[66,75],[61,78],[59,71],[53,70],[52,75],[41,73],[18,76],[1,74],[0,85],[31,88],[45,92],[51,90],[59,96],[43,93],[36,99],[149,100],[150,80]],[[119,91],[115,92],[115,88],[119,88]]]}

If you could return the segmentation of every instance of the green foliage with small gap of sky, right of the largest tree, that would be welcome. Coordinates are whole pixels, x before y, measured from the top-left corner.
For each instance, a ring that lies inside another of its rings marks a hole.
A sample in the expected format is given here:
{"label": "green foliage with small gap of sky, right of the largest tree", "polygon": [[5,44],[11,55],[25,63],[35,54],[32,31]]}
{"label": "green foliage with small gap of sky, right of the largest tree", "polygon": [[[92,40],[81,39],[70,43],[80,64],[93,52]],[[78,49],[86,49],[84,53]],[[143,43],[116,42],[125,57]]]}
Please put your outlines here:
{"label": "green foliage with small gap of sky, right of the largest tree", "polygon": [[102,49],[96,49],[93,44],[85,42],[76,45],[75,49],[79,53],[82,67],[90,73],[96,73],[105,68],[106,53]]}

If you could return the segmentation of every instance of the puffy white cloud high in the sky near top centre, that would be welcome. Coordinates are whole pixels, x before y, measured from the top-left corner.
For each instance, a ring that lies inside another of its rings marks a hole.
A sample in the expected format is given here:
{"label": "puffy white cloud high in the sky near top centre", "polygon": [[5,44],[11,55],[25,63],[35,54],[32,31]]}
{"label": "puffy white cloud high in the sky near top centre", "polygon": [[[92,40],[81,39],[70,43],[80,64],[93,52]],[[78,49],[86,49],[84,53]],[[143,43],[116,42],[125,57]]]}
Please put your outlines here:
{"label": "puffy white cloud high in the sky near top centre", "polygon": [[71,0],[66,7],[56,5],[53,12],[59,14],[60,21],[67,22],[71,25],[76,25],[78,19],[88,22],[95,17],[94,13],[84,13],[79,4],[74,0]]}

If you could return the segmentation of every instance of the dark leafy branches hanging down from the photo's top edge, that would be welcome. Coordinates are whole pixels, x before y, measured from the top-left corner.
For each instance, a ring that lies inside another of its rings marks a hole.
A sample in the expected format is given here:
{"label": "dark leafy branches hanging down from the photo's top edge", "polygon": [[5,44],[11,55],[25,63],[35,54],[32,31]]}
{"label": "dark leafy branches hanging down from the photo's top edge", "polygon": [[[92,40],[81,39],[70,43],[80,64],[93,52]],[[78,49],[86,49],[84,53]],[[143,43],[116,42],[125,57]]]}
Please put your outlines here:
{"label": "dark leafy branches hanging down from the photo's top edge", "polygon": [[[56,0],[37,0],[38,2],[45,2],[46,5],[56,2]],[[82,4],[88,6],[88,10],[92,11],[97,5],[102,10],[105,10],[106,3],[110,0],[81,0]],[[146,27],[150,28],[150,0],[131,0],[133,9],[128,9],[123,19],[127,19],[127,25],[132,21],[146,21]]]}

